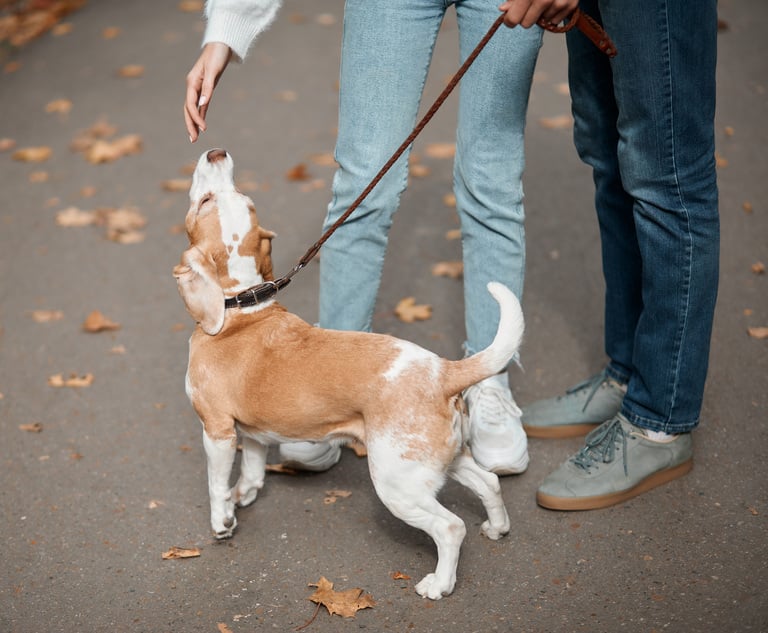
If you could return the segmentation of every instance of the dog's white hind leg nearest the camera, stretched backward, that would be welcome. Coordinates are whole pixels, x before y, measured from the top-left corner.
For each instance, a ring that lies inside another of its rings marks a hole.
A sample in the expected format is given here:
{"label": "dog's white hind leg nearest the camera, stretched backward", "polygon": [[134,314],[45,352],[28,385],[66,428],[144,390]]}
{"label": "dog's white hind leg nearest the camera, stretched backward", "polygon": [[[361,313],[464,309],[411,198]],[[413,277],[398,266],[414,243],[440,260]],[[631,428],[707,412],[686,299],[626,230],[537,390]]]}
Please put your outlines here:
{"label": "dog's white hind leg nearest the camera, stretched backward", "polygon": [[389,511],[429,534],[437,545],[435,571],[416,585],[416,592],[432,600],[447,596],[456,584],[459,551],[467,529],[435,498],[444,481],[443,473],[421,462],[395,458],[391,451],[378,455],[377,460],[371,444],[368,464],[376,493]]}

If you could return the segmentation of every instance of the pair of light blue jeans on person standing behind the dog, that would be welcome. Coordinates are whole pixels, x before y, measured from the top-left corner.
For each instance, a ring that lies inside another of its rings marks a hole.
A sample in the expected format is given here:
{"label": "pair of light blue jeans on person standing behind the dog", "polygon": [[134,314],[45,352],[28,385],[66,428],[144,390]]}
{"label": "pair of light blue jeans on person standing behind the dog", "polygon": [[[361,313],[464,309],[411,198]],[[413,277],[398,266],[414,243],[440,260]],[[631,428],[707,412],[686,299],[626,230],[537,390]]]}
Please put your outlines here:
{"label": "pair of light blue jeans on person standing behind the dog", "polygon": [[[347,0],[333,196],[347,210],[412,131],[440,24],[456,8],[462,61],[498,18],[498,0]],[[541,30],[502,26],[459,86],[454,192],[461,219],[467,341],[493,340],[486,284],[523,290],[523,131]],[[458,62],[457,66],[458,68]],[[408,152],[328,240],[320,259],[322,327],[370,331],[387,237],[407,184]],[[417,210],[409,218],[419,222]]]}

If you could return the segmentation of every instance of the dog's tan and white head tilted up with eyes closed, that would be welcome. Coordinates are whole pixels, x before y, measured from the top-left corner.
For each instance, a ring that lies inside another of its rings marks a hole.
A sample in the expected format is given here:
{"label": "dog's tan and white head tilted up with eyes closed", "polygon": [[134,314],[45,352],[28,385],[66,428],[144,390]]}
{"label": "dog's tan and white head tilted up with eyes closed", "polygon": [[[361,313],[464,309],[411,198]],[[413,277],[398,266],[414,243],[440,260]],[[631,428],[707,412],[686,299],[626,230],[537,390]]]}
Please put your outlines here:
{"label": "dog's tan and white head tilted up with eyes closed", "polygon": [[173,276],[192,318],[218,334],[224,299],[273,279],[274,233],[259,226],[253,202],[235,187],[234,163],[223,149],[200,157],[189,200],[189,248]]}

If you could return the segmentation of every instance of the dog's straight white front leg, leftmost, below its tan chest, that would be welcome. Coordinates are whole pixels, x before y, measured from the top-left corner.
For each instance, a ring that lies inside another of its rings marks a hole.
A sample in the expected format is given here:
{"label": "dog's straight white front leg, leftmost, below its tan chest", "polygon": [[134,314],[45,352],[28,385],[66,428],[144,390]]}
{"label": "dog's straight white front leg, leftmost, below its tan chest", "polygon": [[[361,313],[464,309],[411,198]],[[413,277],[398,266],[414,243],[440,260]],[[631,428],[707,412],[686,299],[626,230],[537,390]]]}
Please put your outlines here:
{"label": "dog's straight white front leg, leftmost, below its tan chest", "polygon": [[229,538],[235,531],[235,502],[229,476],[237,452],[237,435],[214,439],[203,431],[203,447],[208,458],[208,494],[211,500],[211,527],[216,538]]}

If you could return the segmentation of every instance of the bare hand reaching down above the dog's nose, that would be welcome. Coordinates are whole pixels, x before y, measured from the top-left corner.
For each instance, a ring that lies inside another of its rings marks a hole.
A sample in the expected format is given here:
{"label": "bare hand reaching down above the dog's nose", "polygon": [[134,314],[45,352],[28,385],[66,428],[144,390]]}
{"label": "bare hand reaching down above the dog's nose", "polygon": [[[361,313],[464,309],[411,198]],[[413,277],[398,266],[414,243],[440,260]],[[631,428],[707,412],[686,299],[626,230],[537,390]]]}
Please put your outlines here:
{"label": "bare hand reaching down above the dog's nose", "polygon": [[187,74],[187,96],[184,100],[184,121],[189,140],[194,143],[205,132],[205,115],[219,78],[232,59],[232,50],[221,42],[209,42]]}

